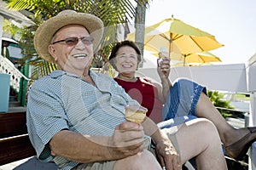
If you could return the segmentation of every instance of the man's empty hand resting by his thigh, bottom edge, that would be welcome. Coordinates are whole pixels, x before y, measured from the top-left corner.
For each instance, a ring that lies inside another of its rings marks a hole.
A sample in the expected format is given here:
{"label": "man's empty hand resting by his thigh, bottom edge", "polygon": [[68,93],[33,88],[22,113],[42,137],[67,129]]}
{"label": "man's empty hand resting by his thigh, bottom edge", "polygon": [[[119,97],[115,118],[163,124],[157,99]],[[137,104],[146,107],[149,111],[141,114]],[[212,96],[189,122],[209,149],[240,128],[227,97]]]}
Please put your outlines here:
{"label": "man's empty hand resting by his thigh, bottom edge", "polygon": [[166,167],[166,170],[182,169],[177,150],[175,150],[169,139],[164,139],[156,144],[156,153],[161,167]]}

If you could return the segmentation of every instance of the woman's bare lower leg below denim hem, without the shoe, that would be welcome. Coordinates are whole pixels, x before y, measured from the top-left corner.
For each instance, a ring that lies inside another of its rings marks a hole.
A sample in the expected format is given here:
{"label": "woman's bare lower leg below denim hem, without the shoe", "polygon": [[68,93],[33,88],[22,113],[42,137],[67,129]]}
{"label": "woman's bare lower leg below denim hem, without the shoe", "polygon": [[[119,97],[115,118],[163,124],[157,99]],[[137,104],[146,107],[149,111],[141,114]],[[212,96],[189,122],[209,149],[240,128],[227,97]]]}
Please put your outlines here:
{"label": "woman's bare lower leg below denim hem, without the shoe", "polygon": [[220,139],[224,145],[233,144],[248,133],[247,128],[237,130],[236,128],[230,126],[230,124],[225,121],[224,117],[218,112],[215,106],[212,105],[212,102],[207,95],[203,93],[201,94],[196,106],[196,116],[205,117],[214,123],[214,125],[218,128]]}

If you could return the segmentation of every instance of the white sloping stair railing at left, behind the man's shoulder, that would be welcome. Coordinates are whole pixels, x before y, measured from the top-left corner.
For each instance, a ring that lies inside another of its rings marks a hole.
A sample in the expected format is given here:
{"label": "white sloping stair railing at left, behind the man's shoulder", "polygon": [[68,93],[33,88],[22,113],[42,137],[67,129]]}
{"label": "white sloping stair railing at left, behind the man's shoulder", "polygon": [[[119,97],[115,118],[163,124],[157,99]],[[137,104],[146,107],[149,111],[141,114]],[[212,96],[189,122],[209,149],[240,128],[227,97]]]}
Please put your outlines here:
{"label": "white sloping stair railing at left, behind the man's shoulder", "polygon": [[0,72],[10,75],[10,86],[19,94],[21,105],[26,105],[26,93],[24,92],[26,92],[26,84],[30,79],[24,76],[9,59],[2,55],[0,55]]}

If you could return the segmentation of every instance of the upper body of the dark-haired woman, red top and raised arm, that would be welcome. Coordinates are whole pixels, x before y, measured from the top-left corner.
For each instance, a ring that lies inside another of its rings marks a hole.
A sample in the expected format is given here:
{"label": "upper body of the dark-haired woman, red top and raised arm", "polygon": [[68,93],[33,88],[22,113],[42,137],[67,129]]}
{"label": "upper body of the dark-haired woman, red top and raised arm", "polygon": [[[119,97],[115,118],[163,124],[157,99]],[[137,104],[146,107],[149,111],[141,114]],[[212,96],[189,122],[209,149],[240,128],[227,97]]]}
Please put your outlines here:
{"label": "upper body of the dark-haired woman, red top and raised arm", "polygon": [[[122,48],[120,46],[125,46],[127,43],[127,48]],[[129,46],[131,46],[129,48]],[[116,49],[121,48],[122,53],[118,59],[115,58]],[[130,52],[133,51],[132,52]],[[130,54],[126,56],[126,54]],[[150,82],[147,78],[135,77],[135,71],[137,66],[141,61],[140,51],[137,48],[136,44],[133,42],[122,42],[118,43],[112,50],[110,55],[110,63],[113,65],[113,68],[116,71],[119,71],[119,75],[114,78],[116,82],[119,83],[125,92],[130,94],[131,98],[137,99],[137,101],[148,109],[147,116],[149,116],[154,122],[161,122],[162,116],[161,112],[163,109],[163,104],[166,100],[167,92],[169,91],[170,85],[172,83],[168,79],[170,69],[166,66],[169,65],[169,59],[162,61],[162,71],[159,71],[162,87],[156,82]],[[113,63],[115,61],[115,63]],[[128,62],[126,62],[128,61]],[[125,65],[123,65],[125,62]]]}

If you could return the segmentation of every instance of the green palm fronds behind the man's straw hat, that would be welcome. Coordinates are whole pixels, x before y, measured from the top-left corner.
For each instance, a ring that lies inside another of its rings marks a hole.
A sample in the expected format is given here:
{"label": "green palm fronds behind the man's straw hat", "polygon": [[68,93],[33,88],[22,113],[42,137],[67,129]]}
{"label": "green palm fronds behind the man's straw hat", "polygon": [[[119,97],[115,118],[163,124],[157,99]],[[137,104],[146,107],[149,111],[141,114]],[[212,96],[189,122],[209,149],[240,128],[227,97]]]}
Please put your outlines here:
{"label": "green palm fronds behind the man's straw hat", "polygon": [[[144,0],[139,0],[143,1]],[[49,74],[57,68],[55,64],[49,64],[44,59],[38,58],[32,43],[33,32],[38,26],[52,16],[58,14],[64,9],[74,9],[79,12],[95,14],[102,19],[105,29],[104,39],[102,40],[102,49],[94,56],[94,65],[102,66],[108,61],[108,55],[113,43],[116,42],[116,29],[120,25],[125,25],[136,15],[137,0],[9,0],[9,9],[26,10],[30,12],[30,18],[36,23],[36,26],[30,26],[23,31],[20,39],[24,46],[22,53],[25,59],[30,59],[30,64],[35,65],[32,79]],[[144,4],[144,3],[143,3]]]}

